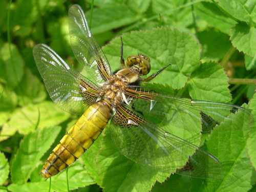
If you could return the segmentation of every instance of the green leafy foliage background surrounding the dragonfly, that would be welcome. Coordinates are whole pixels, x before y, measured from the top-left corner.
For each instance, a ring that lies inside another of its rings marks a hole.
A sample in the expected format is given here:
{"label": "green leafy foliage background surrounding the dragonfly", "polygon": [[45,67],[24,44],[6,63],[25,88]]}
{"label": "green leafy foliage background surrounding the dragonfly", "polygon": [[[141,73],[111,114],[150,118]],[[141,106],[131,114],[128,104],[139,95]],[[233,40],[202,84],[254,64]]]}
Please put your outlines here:
{"label": "green leafy foliage background surrounding the dragonfly", "polygon": [[[89,20],[90,3],[0,0],[0,191],[49,190],[49,180],[38,173],[78,117],[50,100],[32,49],[45,43],[77,69],[69,42],[68,9],[79,4]],[[249,101],[252,118],[256,117],[255,0],[97,0],[91,25],[100,46],[106,45],[103,51],[113,71],[120,66],[122,35],[124,58],[137,53],[149,56],[152,73],[172,64],[153,82],[166,83],[193,99],[237,105]],[[248,119],[236,116],[244,129],[225,132],[227,126],[232,129],[232,122],[226,121],[218,127],[223,132],[214,131],[206,138],[207,151],[220,162],[229,162],[223,165],[221,180],[166,175],[140,166],[116,150],[107,127],[105,136],[69,168],[69,188],[256,191],[256,125],[251,121],[248,128]],[[51,191],[67,191],[66,172],[52,178]]]}

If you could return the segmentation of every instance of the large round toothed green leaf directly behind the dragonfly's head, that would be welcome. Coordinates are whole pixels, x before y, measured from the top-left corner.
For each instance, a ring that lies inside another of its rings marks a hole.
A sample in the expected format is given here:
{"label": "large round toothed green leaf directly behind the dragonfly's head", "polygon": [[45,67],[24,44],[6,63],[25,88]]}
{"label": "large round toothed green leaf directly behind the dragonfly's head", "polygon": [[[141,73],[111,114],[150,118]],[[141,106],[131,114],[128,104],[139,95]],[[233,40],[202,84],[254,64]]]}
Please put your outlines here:
{"label": "large round toothed green leaf directly behind the dragonfly's head", "polygon": [[[131,34],[123,34],[122,39],[124,58],[138,53],[150,57],[150,75],[169,63],[171,64],[162,73],[168,78],[168,81],[165,78],[160,78],[161,75],[159,75],[153,82],[167,83],[174,89],[180,89],[184,87],[190,74],[200,66],[200,46],[197,40],[177,29],[172,30],[166,27],[150,31],[136,31]],[[120,46],[121,41],[116,38],[111,41],[110,45],[103,48],[112,66],[112,71],[121,67]]]}

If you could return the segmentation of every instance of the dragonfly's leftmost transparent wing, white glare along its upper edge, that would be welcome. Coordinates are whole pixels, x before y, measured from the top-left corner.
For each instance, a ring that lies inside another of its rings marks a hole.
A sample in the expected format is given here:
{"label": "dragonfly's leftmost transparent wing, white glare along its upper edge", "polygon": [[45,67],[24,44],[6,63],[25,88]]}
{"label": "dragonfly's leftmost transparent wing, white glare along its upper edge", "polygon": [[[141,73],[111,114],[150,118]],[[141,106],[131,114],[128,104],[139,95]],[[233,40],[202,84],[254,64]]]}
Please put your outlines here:
{"label": "dragonfly's leftmost transparent wing, white glare along its upper edge", "polygon": [[61,109],[80,115],[96,101],[97,86],[71,68],[50,47],[36,45],[33,55],[51,99]]}

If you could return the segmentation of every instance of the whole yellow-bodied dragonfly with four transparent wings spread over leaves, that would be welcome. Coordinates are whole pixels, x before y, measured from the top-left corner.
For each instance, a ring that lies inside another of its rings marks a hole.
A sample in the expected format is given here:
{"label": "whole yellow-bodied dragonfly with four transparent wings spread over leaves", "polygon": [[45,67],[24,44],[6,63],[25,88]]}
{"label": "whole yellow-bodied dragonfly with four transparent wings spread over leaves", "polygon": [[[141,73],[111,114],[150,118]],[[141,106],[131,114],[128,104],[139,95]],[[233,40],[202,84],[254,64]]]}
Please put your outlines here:
{"label": "whole yellow-bodied dragonfly with four transparent wings spread over leaves", "polygon": [[[87,77],[47,45],[33,48],[36,66],[53,102],[80,115],[52,150],[42,176],[49,178],[69,167],[109,124],[119,152],[136,163],[190,177],[222,177],[218,159],[199,147],[200,132],[211,131],[225,119],[240,129],[238,120],[230,114],[248,111],[233,104],[177,96],[164,86],[150,83],[169,65],[143,78],[151,71],[150,58],[138,54],[124,61],[122,39],[120,70],[113,73],[79,5],[69,9],[69,32],[71,48]],[[185,140],[172,130],[192,134]]]}

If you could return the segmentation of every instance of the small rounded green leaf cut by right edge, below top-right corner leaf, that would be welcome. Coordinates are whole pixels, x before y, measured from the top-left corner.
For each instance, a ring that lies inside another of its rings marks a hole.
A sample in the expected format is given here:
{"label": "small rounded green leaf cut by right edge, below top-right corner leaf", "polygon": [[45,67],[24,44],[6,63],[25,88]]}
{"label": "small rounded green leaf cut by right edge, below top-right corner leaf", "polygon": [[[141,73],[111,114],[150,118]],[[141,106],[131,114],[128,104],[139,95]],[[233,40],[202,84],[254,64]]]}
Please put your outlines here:
{"label": "small rounded green leaf cut by right edge, below top-right corner leaf", "polygon": [[254,57],[256,54],[256,28],[239,23],[230,31],[230,40],[239,51]]}

